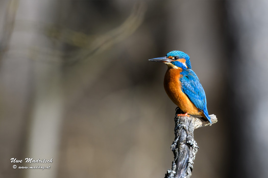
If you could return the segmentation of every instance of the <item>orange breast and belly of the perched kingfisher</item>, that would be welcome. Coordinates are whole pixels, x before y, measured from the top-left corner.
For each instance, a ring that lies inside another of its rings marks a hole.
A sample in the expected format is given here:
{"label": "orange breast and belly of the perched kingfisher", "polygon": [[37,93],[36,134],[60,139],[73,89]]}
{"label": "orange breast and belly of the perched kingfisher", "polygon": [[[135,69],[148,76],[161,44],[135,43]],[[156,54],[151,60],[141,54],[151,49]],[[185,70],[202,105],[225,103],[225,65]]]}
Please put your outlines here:
{"label": "orange breast and belly of the perched kingfisher", "polygon": [[192,115],[204,115],[190,99],[181,90],[181,68],[168,68],[164,78],[164,88],[168,97],[177,105],[183,112],[188,112]]}

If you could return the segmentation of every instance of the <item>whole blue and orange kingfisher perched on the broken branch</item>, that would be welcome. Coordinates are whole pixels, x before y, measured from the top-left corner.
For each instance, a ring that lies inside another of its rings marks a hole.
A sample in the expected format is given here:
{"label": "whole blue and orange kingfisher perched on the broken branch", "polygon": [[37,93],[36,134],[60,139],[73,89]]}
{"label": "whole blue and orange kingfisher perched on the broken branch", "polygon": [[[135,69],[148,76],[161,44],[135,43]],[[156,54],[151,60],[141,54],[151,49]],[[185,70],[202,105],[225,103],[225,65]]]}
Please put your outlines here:
{"label": "whole blue and orange kingfisher perched on the broken branch", "polygon": [[184,112],[178,116],[202,116],[211,124],[206,94],[197,74],[191,70],[189,55],[182,51],[170,51],[164,57],[149,61],[167,65],[164,88],[168,97]]}

